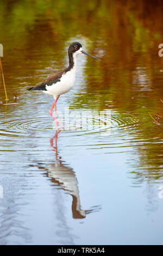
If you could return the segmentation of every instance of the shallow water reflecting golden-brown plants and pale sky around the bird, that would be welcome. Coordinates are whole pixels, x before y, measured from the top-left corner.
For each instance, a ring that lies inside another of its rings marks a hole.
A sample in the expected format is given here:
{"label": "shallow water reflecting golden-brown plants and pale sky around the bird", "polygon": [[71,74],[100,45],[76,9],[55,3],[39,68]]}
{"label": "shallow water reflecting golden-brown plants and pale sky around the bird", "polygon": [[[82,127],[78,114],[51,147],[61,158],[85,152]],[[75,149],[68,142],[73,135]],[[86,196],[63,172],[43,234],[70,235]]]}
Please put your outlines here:
{"label": "shallow water reflecting golden-brown plants and pale sky around the bird", "polygon": [[[162,113],[161,8],[1,4],[1,245],[162,244],[163,132],[148,114]],[[101,61],[78,57],[76,83],[57,103],[58,114],[79,114],[77,128],[56,134],[53,98],[26,89],[65,67],[74,40]],[[82,113],[93,111],[84,129]],[[104,112],[107,129],[97,125]]]}

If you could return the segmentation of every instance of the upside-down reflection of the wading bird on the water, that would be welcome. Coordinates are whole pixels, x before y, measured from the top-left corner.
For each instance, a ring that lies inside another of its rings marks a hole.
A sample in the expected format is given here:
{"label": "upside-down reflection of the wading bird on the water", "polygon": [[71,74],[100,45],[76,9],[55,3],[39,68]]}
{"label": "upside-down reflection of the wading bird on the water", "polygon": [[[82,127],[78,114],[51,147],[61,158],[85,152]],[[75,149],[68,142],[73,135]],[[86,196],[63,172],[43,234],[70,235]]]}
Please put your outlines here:
{"label": "upside-down reflection of the wading bird on the water", "polygon": [[[47,175],[52,178],[52,182],[59,185],[63,190],[72,196],[72,216],[73,218],[85,218],[86,214],[99,210],[99,206],[93,206],[90,210],[82,210],[80,204],[78,180],[73,169],[61,160],[58,156],[58,135],[60,131],[56,131],[55,136],[50,140],[51,147],[55,151],[55,163],[48,166]],[[54,143],[55,141],[55,143]]]}

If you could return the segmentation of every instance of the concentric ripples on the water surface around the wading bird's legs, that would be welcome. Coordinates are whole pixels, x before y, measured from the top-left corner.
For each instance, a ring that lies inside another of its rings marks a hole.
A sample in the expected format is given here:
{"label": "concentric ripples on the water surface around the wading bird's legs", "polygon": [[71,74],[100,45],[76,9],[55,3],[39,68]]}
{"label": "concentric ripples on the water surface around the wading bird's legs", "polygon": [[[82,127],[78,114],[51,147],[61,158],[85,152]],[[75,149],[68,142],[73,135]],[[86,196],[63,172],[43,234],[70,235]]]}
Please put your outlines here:
{"label": "concentric ripples on the water surface around the wading bird's legs", "polygon": [[[124,131],[133,132],[141,121],[130,114],[121,117],[116,112],[110,111],[90,112],[72,112],[69,117],[58,118],[64,125],[66,131],[80,132],[80,135],[97,133],[101,136],[123,135]],[[13,115],[7,115],[1,119],[0,135],[1,136],[35,136],[41,131],[55,130],[55,121],[47,116],[15,118]],[[60,129],[60,126],[58,126]],[[34,133],[32,133],[34,132]]]}

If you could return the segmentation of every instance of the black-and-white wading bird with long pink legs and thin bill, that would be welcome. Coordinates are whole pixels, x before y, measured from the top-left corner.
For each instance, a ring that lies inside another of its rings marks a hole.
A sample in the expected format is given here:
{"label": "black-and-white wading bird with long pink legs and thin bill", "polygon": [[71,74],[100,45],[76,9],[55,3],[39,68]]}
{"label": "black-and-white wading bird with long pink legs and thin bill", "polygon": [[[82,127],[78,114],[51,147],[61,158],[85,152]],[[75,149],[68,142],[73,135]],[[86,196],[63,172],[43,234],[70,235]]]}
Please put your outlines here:
{"label": "black-and-white wading bird with long pink legs and thin bill", "polygon": [[[57,101],[60,95],[68,93],[72,89],[77,71],[77,56],[82,53],[99,60],[99,58],[84,52],[80,42],[72,42],[72,44],[68,47],[68,67],[63,71],[48,76],[45,81],[39,83],[37,86],[27,89],[28,91],[41,90],[43,93],[52,95],[54,97],[54,103],[49,109],[49,114],[55,120],[56,130],[58,130],[57,124],[64,129],[64,126],[57,119]],[[53,108],[55,109],[55,115],[52,113]]]}

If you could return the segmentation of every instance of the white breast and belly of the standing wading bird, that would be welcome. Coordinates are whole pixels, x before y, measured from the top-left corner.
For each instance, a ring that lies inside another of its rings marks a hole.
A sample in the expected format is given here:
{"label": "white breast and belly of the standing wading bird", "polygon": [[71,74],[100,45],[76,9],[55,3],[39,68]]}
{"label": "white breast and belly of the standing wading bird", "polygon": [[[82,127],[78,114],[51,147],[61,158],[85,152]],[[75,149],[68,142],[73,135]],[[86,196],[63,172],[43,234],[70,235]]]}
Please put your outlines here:
{"label": "white breast and belly of the standing wading bird", "polygon": [[76,66],[74,66],[70,71],[66,72],[66,74],[62,75],[60,82],[54,83],[52,86],[46,86],[47,91],[43,92],[53,95],[54,99],[57,99],[59,95],[67,93],[71,90],[74,84],[75,76]]}

